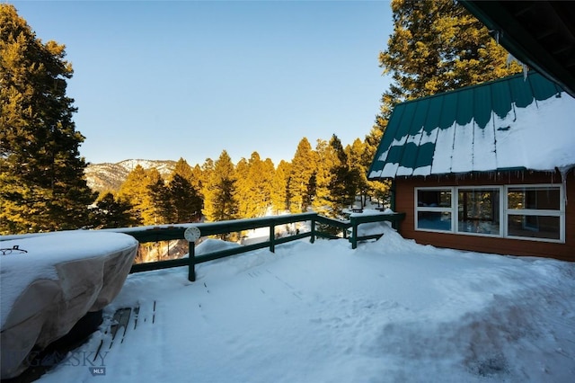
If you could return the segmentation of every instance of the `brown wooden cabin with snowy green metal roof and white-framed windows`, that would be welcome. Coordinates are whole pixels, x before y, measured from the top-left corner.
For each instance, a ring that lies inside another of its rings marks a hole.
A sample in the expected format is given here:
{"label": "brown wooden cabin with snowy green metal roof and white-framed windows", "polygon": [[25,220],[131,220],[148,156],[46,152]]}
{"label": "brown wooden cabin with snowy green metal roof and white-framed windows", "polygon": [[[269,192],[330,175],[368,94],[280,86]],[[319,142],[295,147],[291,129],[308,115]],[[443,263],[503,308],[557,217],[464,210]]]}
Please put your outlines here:
{"label": "brown wooden cabin with snowy green metal roof and white-framed windows", "polygon": [[575,261],[575,99],[544,76],[398,104],[368,178],[420,244]]}

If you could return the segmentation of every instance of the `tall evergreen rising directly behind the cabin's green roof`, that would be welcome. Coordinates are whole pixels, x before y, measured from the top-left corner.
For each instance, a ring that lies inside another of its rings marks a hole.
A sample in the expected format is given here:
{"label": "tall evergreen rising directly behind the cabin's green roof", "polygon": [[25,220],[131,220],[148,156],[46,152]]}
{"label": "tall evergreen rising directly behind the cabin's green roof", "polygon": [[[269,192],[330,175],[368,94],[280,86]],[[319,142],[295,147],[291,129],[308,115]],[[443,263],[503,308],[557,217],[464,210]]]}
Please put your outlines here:
{"label": "tall evergreen rising directly behind the cabin's green roof", "polygon": [[379,55],[393,84],[381,100],[377,129],[385,129],[394,105],[479,84],[521,71],[508,53],[454,0],[392,0],[394,33]]}

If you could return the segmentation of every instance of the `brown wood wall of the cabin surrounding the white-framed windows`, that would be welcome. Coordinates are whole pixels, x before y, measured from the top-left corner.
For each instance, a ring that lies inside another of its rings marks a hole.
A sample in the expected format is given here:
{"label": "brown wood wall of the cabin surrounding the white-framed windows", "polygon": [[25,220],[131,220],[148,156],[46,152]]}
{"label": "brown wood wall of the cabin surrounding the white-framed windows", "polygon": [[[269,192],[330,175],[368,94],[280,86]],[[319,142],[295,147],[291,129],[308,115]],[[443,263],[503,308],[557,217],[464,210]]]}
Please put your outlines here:
{"label": "brown wood wall of the cabin surrounding the white-framed windows", "polygon": [[466,174],[439,177],[399,177],[395,180],[395,210],[406,213],[400,229],[405,238],[423,245],[434,245],[481,253],[553,257],[575,262],[575,171],[567,175],[567,205],[565,206],[565,244],[524,239],[466,236],[451,233],[416,231],[414,222],[414,191],[416,187],[473,186],[503,184],[562,183],[559,173],[509,172],[501,174]]}

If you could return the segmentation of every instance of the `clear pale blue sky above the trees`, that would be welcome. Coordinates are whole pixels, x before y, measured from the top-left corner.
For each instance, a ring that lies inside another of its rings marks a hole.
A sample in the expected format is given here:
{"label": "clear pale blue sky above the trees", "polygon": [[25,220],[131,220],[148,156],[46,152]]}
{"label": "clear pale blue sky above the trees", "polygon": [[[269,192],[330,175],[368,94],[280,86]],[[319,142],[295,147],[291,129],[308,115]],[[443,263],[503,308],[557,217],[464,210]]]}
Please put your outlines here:
{"label": "clear pale blue sky above the trees", "polygon": [[81,155],[291,160],[301,138],[343,145],[373,126],[389,80],[388,1],[13,1],[66,45]]}

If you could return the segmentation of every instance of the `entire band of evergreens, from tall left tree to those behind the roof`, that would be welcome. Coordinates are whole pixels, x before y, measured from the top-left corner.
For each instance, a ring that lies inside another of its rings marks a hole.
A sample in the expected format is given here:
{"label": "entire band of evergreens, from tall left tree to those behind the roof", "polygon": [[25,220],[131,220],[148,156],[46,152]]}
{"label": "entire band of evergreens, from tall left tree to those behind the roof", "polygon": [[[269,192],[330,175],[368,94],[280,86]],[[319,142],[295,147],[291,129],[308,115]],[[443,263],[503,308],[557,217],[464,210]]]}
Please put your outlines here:
{"label": "entire band of evergreens, from tall left tree to those behind the roof", "polygon": [[333,136],[312,147],[303,138],[293,159],[278,165],[257,152],[235,165],[226,151],[193,167],[181,159],[166,179],[137,167],[117,193],[99,197],[84,178],[65,46],[42,42],[13,5],[0,4],[0,235],[283,210],[337,217],[356,195],[382,198],[386,184],[367,182],[366,173],[395,104],[521,70],[454,0],[392,0],[391,7],[394,32],[379,65],[392,84],[363,141],[343,147]]}

